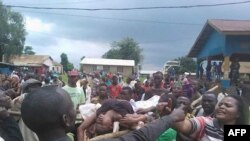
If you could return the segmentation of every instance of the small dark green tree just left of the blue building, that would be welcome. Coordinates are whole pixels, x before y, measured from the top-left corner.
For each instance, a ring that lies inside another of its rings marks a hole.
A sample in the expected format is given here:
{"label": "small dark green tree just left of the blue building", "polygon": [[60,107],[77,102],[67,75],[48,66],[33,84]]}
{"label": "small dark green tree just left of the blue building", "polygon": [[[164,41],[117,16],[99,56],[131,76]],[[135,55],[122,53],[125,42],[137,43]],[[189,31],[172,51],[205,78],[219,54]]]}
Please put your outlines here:
{"label": "small dark green tree just left of the blue building", "polygon": [[196,61],[194,61],[192,58],[179,57],[179,58],[177,58],[175,60],[180,61],[179,73],[195,72],[195,70],[196,70]]}

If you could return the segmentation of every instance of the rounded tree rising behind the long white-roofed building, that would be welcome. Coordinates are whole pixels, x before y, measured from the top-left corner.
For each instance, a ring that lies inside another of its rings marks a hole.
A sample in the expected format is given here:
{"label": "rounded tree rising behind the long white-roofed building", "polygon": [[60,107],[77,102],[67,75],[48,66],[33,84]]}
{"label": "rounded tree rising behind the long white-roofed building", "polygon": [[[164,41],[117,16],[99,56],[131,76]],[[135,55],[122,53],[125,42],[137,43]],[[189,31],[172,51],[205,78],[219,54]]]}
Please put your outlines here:
{"label": "rounded tree rising behind the long white-roofed building", "polygon": [[111,44],[111,49],[102,57],[108,59],[135,60],[136,65],[143,59],[142,49],[132,38],[125,38],[118,42],[114,41]]}

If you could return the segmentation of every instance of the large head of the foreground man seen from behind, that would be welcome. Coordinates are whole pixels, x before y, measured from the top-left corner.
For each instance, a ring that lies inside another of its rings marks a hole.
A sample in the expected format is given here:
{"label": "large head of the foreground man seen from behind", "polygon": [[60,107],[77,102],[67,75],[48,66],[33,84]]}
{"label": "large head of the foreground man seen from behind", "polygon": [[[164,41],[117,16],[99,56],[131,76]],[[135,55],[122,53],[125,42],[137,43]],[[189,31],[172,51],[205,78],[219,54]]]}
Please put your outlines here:
{"label": "large head of the foreground man seen from behind", "polygon": [[68,93],[56,86],[38,88],[27,95],[21,106],[24,123],[39,138],[46,133],[65,133],[75,122],[76,111]]}

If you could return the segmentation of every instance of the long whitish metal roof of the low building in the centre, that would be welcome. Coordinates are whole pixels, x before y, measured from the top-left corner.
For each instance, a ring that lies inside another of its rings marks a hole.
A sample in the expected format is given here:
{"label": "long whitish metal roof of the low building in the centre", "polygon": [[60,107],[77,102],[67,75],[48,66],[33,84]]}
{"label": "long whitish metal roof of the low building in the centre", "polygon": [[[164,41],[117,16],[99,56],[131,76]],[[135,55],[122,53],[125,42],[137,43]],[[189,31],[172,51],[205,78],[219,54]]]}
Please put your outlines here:
{"label": "long whitish metal roof of the low building in the centre", "polygon": [[111,66],[135,66],[134,60],[84,58],[81,64],[89,65],[111,65]]}

